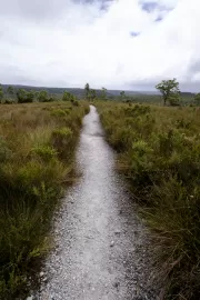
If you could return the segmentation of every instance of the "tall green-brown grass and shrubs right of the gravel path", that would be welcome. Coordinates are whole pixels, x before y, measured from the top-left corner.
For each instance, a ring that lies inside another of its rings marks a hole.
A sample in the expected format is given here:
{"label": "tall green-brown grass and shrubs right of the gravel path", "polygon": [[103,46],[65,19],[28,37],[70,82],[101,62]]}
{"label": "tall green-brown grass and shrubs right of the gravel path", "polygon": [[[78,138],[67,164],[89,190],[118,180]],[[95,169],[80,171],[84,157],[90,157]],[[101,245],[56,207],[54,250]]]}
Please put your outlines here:
{"label": "tall green-brown grass and shrubs right of the gravel path", "polygon": [[200,299],[200,110],[98,103],[151,228],[160,299]]}

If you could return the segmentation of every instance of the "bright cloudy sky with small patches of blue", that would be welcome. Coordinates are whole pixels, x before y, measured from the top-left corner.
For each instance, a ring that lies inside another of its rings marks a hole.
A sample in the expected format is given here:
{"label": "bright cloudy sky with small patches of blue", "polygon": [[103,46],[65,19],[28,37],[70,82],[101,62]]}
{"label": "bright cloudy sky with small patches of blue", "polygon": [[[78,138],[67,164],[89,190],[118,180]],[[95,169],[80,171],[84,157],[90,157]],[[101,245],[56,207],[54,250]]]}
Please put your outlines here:
{"label": "bright cloudy sky with small patches of blue", "polygon": [[0,83],[200,91],[200,0],[0,0]]}

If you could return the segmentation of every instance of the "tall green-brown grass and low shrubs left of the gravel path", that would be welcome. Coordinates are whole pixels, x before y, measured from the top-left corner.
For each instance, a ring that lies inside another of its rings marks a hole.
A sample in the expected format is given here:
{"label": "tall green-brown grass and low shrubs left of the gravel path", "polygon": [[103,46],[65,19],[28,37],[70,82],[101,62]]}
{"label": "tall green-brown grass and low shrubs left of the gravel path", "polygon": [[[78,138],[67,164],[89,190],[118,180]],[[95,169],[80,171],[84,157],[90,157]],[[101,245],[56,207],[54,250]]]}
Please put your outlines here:
{"label": "tall green-brown grass and low shrubs left of the gravel path", "polygon": [[23,299],[32,284],[87,111],[83,103],[0,106],[0,299]]}

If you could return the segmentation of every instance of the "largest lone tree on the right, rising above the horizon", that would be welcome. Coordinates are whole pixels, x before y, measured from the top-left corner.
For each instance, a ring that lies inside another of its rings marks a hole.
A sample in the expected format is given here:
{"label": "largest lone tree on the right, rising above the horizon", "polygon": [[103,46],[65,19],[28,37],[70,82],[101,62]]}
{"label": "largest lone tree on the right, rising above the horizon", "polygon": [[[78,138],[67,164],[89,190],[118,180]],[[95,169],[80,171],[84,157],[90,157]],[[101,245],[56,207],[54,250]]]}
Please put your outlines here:
{"label": "largest lone tree on the right, rising above the horizon", "polygon": [[180,94],[179,82],[176,78],[171,80],[162,80],[156,86],[156,89],[161,92],[164,106],[167,101],[169,101],[170,97],[174,97],[174,94]]}

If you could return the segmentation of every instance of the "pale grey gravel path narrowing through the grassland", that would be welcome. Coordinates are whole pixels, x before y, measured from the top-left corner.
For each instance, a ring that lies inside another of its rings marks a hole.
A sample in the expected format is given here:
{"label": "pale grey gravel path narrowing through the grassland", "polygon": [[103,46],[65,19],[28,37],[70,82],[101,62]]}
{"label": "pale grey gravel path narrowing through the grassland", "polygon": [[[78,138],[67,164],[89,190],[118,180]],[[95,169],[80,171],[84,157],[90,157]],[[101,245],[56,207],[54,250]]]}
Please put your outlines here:
{"label": "pale grey gravel path narrowing through the grassland", "polygon": [[94,107],[84,117],[77,151],[82,176],[68,190],[46,262],[42,300],[156,299],[148,288],[147,233],[114,170]]}

